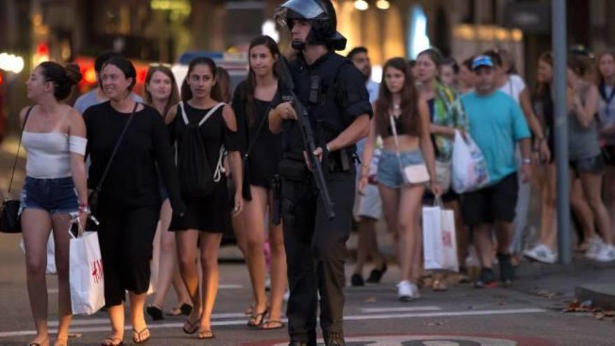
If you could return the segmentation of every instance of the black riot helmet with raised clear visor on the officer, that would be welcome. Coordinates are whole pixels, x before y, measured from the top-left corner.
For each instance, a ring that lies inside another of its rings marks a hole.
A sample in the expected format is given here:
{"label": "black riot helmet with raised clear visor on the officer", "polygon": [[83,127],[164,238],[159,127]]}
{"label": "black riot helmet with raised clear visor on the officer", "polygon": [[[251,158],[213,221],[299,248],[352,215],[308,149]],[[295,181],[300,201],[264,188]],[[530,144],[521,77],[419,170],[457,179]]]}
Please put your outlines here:
{"label": "black riot helmet with raised clear visor on the officer", "polygon": [[275,20],[292,29],[292,20],[307,20],[312,24],[305,42],[293,41],[293,48],[302,50],[306,44],[326,45],[333,50],[344,50],[346,38],[337,31],[338,19],[331,0],[288,0],[275,10]]}

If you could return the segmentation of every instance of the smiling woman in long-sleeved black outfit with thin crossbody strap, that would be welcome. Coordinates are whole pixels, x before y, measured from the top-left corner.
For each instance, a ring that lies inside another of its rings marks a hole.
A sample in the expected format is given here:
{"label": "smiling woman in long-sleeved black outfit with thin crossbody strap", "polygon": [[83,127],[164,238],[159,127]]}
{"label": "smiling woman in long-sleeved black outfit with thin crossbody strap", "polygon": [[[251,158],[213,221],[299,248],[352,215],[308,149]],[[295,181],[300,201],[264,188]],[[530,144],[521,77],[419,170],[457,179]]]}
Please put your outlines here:
{"label": "smiling woman in long-sleeved black outfit with thin crossbody strap", "polygon": [[[173,147],[157,110],[136,103],[131,97],[136,70],[128,60],[113,57],[103,65],[101,87],[110,100],[87,108],[89,189],[98,187],[108,162],[96,217],[105,275],[105,301],[113,332],[103,345],[122,345],[124,339],[125,291],[129,291],[133,342],[150,338],[143,310],[150,285],[152,243],[158,224],[160,168],[173,212],[182,215],[185,206],[173,164]],[[126,134],[110,160],[122,131]]]}

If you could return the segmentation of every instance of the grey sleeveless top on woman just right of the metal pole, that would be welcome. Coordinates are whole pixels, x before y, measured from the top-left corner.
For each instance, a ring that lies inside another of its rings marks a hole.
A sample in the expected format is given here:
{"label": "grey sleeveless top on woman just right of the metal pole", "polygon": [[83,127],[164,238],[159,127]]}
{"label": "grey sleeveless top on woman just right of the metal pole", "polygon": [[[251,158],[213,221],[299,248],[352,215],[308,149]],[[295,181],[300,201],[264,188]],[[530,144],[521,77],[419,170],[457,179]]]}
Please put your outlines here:
{"label": "grey sleeveless top on woman just right of the metal pole", "polygon": [[[581,89],[581,102],[585,103],[590,85]],[[598,123],[595,117],[589,127],[583,127],[574,110],[568,111],[568,150],[570,161],[591,159],[600,155],[600,142],[598,141]]]}

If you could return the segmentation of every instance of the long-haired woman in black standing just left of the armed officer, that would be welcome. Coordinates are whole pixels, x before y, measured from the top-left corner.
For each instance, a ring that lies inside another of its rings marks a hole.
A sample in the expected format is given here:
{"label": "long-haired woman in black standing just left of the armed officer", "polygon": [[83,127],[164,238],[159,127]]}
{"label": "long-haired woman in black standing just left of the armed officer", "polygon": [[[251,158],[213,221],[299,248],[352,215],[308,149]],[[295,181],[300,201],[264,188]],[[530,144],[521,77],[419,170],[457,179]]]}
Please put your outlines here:
{"label": "long-haired woman in black standing just left of the armed officer", "polygon": [[[286,252],[282,224],[274,225],[273,191],[271,180],[277,174],[277,164],[282,157],[280,135],[269,131],[268,113],[270,105],[278,93],[278,80],[275,65],[280,57],[277,43],[269,36],[254,39],[249,48],[249,74],[238,85],[233,96],[233,110],[245,134],[242,154],[247,157],[247,185],[244,196],[248,201],[241,222],[236,227],[238,243],[246,258],[247,268],[252,280],[254,306],[248,326],[259,329],[280,329],[282,300],[287,287]],[[266,265],[264,245],[266,224],[269,224],[269,245],[271,250],[271,305],[268,309],[265,293]],[[269,319],[266,315],[270,313]]]}

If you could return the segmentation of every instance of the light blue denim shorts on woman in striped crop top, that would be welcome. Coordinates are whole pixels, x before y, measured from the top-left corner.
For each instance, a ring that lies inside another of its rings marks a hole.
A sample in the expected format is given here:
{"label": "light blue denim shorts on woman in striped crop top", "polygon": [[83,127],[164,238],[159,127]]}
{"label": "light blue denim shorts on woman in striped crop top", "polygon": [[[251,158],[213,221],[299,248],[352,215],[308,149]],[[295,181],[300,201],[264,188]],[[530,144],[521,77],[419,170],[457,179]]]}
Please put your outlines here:
{"label": "light blue denim shorts on woman in striped crop top", "polygon": [[[410,152],[400,152],[401,166],[411,164],[425,164],[423,153],[421,150],[412,150]],[[397,159],[396,152],[382,150],[380,161],[378,161],[378,182],[386,187],[397,189],[404,184],[403,176],[401,175],[401,167]]]}

